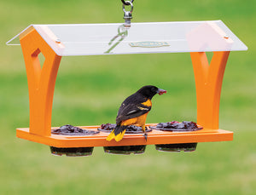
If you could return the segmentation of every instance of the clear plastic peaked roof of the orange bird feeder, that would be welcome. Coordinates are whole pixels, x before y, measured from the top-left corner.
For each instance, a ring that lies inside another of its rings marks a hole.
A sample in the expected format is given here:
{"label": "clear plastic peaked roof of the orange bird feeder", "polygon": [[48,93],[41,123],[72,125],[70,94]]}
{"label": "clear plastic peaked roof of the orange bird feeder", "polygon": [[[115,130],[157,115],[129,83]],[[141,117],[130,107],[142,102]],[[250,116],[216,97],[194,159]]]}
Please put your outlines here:
{"label": "clear plastic peaked roof of the orange bird feeder", "polygon": [[[221,20],[123,24],[32,25],[55,53],[147,54],[247,50]],[[8,44],[16,44],[19,35]]]}

